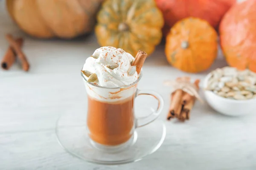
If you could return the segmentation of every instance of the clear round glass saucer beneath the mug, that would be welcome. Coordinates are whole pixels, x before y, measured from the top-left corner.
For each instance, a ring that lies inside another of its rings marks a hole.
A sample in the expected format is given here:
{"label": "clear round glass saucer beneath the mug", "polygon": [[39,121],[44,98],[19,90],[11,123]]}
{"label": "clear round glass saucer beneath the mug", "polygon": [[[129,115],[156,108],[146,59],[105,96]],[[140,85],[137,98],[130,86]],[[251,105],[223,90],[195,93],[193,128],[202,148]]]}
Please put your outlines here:
{"label": "clear round glass saucer beneath the mug", "polygon": [[137,128],[125,149],[109,152],[95,146],[87,135],[86,114],[69,112],[56,123],[59,144],[73,156],[96,164],[125,164],[154,153],[163,143],[166,127],[155,120]]}

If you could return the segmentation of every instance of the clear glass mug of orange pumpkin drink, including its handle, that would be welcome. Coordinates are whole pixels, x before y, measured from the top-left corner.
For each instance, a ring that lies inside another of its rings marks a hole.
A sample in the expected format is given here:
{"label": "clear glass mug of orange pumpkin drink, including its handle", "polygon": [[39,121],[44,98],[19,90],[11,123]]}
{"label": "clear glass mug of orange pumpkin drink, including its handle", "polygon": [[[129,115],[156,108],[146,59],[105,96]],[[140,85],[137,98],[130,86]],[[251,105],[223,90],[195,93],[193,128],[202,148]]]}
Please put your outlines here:
{"label": "clear glass mug of orange pumpkin drink, including its handle", "polygon": [[[90,143],[99,149],[123,148],[134,141],[134,130],[154,121],[163,109],[163,98],[151,90],[139,90],[137,84],[106,88],[87,82],[81,73],[87,91],[87,130]],[[143,118],[134,114],[134,99],[150,95],[157,99],[157,110]],[[136,139],[135,139],[136,140]]]}

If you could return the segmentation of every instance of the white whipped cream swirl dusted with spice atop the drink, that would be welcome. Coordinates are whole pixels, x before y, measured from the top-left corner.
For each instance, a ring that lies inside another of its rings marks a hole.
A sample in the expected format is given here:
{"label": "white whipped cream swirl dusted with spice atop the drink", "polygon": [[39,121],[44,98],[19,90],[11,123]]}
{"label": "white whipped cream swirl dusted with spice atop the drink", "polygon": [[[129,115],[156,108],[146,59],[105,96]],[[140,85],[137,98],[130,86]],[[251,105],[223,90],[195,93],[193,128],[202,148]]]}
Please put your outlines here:
{"label": "white whipped cream swirl dusted with spice atop the drink", "polygon": [[[114,88],[127,86],[138,79],[138,74],[128,75],[128,69],[131,67],[131,61],[134,57],[122,49],[116,49],[111,46],[104,46],[96,49],[94,57],[88,57],[85,61],[83,70],[96,73],[98,79],[93,82],[99,86]],[[109,64],[117,63],[118,67],[109,69]],[[84,78],[87,77],[84,75]]]}

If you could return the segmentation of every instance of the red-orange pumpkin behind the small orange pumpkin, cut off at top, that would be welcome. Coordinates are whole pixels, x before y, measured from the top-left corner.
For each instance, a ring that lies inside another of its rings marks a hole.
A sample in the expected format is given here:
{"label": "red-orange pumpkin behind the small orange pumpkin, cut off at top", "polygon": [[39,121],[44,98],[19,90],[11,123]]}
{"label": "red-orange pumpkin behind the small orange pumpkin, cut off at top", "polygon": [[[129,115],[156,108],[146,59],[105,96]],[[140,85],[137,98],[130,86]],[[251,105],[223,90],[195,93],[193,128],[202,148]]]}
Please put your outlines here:
{"label": "red-orange pumpkin behind the small orange pumpkin, cut off at top", "polygon": [[186,17],[207,20],[215,29],[236,0],[155,0],[163,12],[166,24],[172,27]]}

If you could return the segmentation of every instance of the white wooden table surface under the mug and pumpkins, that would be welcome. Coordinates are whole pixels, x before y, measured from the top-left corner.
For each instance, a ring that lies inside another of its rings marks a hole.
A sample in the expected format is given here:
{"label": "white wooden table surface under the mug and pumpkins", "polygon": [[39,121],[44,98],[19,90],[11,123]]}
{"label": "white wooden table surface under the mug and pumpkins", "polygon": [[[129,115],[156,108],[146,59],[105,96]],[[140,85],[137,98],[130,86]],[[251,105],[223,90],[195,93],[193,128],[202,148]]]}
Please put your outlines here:
{"label": "white wooden table surface under the mug and pumpkins", "polygon": [[219,56],[210,70],[187,74],[172,68],[164,46],[145,62],[139,87],[159,92],[165,101],[159,119],[165,121],[163,145],[143,160],[119,166],[90,164],[66,153],[58,144],[55,122],[66,112],[85,112],[85,88],[79,70],[98,48],[91,35],[80,40],[37,40],[9,19],[0,0],[0,56],[8,44],[5,33],[25,38],[24,52],[31,69],[19,64],[0,70],[0,170],[255,170],[256,113],[232,118],[196,103],[191,120],[165,121],[169,87],[164,80],[189,75],[204,78],[211,69],[225,66]]}

